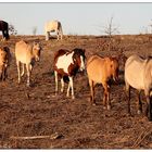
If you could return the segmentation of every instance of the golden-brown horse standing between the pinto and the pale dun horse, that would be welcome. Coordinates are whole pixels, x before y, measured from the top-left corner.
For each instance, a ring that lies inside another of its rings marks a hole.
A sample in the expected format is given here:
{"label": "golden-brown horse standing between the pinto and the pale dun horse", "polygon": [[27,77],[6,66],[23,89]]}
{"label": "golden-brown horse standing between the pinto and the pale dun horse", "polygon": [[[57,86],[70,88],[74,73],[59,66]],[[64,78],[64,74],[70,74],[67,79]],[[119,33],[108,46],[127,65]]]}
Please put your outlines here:
{"label": "golden-brown horse standing between the pinto and the pale dun horse", "polygon": [[102,84],[104,88],[103,105],[104,109],[111,109],[110,101],[110,86],[109,80],[113,78],[118,80],[118,61],[116,58],[101,58],[99,55],[92,55],[87,62],[87,73],[90,85],[90,100],[94,103],[94,86],[96,84]]}

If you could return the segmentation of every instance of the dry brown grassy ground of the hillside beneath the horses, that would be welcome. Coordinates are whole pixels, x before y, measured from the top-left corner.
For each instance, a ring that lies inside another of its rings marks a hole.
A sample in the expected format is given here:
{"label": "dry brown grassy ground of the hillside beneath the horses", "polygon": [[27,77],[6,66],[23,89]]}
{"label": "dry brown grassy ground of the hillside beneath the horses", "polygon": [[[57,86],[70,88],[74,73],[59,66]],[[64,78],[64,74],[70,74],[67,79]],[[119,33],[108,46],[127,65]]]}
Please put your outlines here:
{"label": "dry brown grassy ground of the hillside beneath the horses", "polygon": [[[132,53],[151,55],[151,35],[115,36],[111,49],[106,37],[64,36],[62,41],[45,40],[45,36],[11,36],[0,47],[12,52],[9,77],[0,83],[0,149],[151,149],[152,123],[144,113],[137,114],[137,91],[131,90],[131,116],[127,114],[124,90],[124,63]],[[17,84],[14,58],[15,42],[24,39],[40,41],[42,53],[31,74],[31,87],[26,75]],[[74,78],[75,100],[63,93],[54,96],[53,54],[59,49],[86,49],[92,54],[119,58],[119,83],[111,86],[112,110],[103,109],[103,88],[96,87],[96,102],[89,101],[87,74]],[[138,75],[138,74],[137,74]],[[142,92],[143,111],[145,98]],[[22,139],[21,137],[27,137]],[[33,138],[33,139],[31,139]]]}

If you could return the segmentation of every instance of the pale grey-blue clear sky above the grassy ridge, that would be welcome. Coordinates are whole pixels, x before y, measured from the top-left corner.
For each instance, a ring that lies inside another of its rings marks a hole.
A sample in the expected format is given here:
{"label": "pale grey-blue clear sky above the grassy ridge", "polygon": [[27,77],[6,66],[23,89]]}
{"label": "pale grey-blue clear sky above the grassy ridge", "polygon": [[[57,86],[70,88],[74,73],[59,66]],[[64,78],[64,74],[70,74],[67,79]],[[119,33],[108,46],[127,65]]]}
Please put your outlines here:
{"label": "pale grey-blue clear sky above the grassy ridge", "polygon": [[45,23],[59,20],[65,35],[104,35],[110,18],[117,34],[150,33],[152,3],[3,3],[0,2],[0,20],[14,25],[18,35],[45,35]]}

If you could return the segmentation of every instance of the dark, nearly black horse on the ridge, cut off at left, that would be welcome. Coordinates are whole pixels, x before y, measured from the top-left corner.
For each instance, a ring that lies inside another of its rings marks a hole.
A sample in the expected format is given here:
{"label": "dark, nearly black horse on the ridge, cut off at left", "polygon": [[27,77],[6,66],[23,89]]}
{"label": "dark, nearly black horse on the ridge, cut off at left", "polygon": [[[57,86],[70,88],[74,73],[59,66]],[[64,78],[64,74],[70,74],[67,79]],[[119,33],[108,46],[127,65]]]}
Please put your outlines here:
{"label": "dark, nearly black horse on the ridge, cut off at left", "polygon": [[2,31],[2,39],[8,40],[9,36],[9,24],[4,21],[0,21],[0,30]]}

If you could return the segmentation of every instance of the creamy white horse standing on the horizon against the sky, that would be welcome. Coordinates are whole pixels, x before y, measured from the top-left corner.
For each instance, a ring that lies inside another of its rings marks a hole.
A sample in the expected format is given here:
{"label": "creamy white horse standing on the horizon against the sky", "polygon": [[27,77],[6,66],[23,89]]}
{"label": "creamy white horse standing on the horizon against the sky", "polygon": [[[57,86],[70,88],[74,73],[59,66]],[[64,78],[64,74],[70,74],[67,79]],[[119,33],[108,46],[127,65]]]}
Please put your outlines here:
{"label": "creamy white horse standing on the horizon against the sky", "polygon": [[45,25],[46,40],[49,40],[50,33],[56,33],[58,40],[63,37],[62,25],[59,21],[47,22]]}

